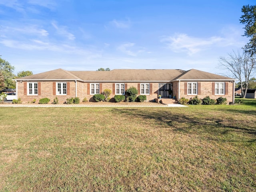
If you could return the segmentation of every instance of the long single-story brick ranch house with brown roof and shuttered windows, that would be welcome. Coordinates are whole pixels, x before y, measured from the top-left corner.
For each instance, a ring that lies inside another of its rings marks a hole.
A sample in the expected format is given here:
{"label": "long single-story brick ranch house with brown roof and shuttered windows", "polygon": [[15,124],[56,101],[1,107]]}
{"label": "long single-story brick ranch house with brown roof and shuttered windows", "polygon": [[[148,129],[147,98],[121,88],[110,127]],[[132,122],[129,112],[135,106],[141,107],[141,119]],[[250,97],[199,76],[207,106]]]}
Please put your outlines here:
{"label": "long single-story brick ranch house with brown roof and shuttered windows", "polygon": [[104,89],[115,94],[124,92],[134,86],[139,95],[146,95],[147,102],[154,100],[160,94],[169,98],[169,90],[176,100],[185,97],[204,98],[210,96],[217,99],[220,96],[234,103],[234,79],[200,70],[188,71],[174,69],[114,69],[110,71],[67,71],[56,69],[40,74],[34,74],[15,79],[16,96],[23,103],[36,99],[49,98],[50,102],[58,98],[60,103],[67,98],[87,98],[93,101],[94,94],[100,94]]}

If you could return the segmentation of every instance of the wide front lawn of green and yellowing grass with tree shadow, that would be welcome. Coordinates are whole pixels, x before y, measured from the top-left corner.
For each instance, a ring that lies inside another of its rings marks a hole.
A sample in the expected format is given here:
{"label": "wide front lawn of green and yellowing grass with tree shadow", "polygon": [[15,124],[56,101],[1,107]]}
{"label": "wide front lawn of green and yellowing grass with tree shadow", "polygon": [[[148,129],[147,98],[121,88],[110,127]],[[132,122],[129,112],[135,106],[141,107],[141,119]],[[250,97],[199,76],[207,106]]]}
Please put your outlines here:
{"label": "wide front lawn of green and yellowing grass with tree shadow", "polygon": [[2,107],[0,191],[255,191],[254,103]]}

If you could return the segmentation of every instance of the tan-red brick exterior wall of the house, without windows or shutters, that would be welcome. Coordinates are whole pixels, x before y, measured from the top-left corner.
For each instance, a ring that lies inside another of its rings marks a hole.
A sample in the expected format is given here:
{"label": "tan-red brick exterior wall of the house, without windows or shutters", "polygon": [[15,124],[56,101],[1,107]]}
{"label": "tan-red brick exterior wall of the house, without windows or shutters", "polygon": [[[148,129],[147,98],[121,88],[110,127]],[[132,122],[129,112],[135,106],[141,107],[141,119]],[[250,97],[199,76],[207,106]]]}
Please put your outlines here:
{"label": "tan-red brick exterior wall of the house, without windows or shutters", "polygon": [[[62,81],[63,82],[63,81]],[[87,98],[88,101],[92,101],[92,97],[93,95],[88,94],[88,89],[90,90],[90,87],[88,87],[88,85],[90,86],[90,83],[88,82],[75,82],[75,81],[70,81],[67,82],[69,83],[69,91],[67,91],[69,94],[67,95],[54,95],[54,91],[53,91],[53,83],[54,82],[48,82],[48,81],[41,81],[38,82],[40,83],[40,95],[26,95],[26,93],[24,94],[24,85],[26,85],[28,82],[17,82],[17,98],[21,98],[21,101],[25,104],[28,102],[32,102],[34,99],[36,99],[36,103],[39,102],[39,100],[41,98],[49,98],[50,102],[53,102],[54,98],[58,98],[59,103],[64,103],[66,102],[67,98],[75,98],[78,97],[80,98],[80,102],[82,102],[82,100],[84,98]],[[145,82],[148,83],[148,82]],[[170,82],[166,82],[166,83],[170,83]],[[228,95],[212,95],[212,82],[200,82],[200,95],[198,95],[199,98],[204,98],[205,96],[210,96],[210,98],[212,99],[217,99],[218,97],[222,96],[227,98],[228,102],[232,102],[233,100],[233,83],[227,82],[228,83]],[[115,83],[114,83],[115,84]],[[139,83],[140,84],[140,83]],[[150,93],[152,92],[152,94],[146,94],[147,96],[147,102],[150,100],[154,100],[155,98],[157,98],[158,96],[158,88],[159,88],[159,83],[150,83],[150,88],[152,87],[152,90],[150,91]],[[127,87],[125,87],[125,90],[134,86],[135,88],[138,89],[138,83],[135,82],[126,82],[125,85],[127,85]],[[27,85],[26,85],[27,86]],[[76,90],[76,86],[77,86],[77,90]],[[111,82],[104,82],[101,83],[102,89],[100,90],[100,93],[102,93],[102,91],[104,89],[110,89],[112,91],[112,94],[110,95],[110,98],[114,98],[114,92],[113,92],[113,83]],[[192,98],[194,97],[194,95],[188,95],[185,94],[184,91],[184,82],[180,82],[180,92],[178,92],[178,82],[172,82],[172,95],[176,96],[176,99],[178,98]],[[26,90],[27,92],[27,90]],[[77,92],[77,95],[76,95]],[[140,95],[140,92],[138,93],[138,95]],[[111,100],[113,101],[113,99]]]}

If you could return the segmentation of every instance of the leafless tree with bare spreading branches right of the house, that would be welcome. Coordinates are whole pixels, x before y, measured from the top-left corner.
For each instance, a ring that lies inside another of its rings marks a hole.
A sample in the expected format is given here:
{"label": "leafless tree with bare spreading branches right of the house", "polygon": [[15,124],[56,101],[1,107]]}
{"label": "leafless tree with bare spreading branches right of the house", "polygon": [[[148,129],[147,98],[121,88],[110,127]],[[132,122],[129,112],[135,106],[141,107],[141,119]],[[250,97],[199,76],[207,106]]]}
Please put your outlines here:
{"label": "leafless tree with bare spreading branches right of the house", "polygon": [[232,78],[240,82],[242,97],[245,98],[250,78],[256,72],[255,54],[246,52],[244,48],[237,53],[228,54],[228,58],[220,57],[218,68],[228,70]]}

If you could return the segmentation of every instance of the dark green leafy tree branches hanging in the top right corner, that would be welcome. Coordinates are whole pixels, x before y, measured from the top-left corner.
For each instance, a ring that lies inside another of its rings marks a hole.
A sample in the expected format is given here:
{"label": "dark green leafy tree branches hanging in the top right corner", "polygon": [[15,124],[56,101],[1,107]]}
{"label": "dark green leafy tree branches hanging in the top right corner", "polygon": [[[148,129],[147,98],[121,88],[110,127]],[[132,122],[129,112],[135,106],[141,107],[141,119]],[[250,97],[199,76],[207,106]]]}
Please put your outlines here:
{"label": "dark green leafy tree branches hanging in the top right corner", "polygon": [[242,7],[242,15],[240,18],[240,23],[245,24],[244,27],[244,36],[250,38],[245,46],[246,51],[251,54],[256,53],[256,6],[245,5]]}

